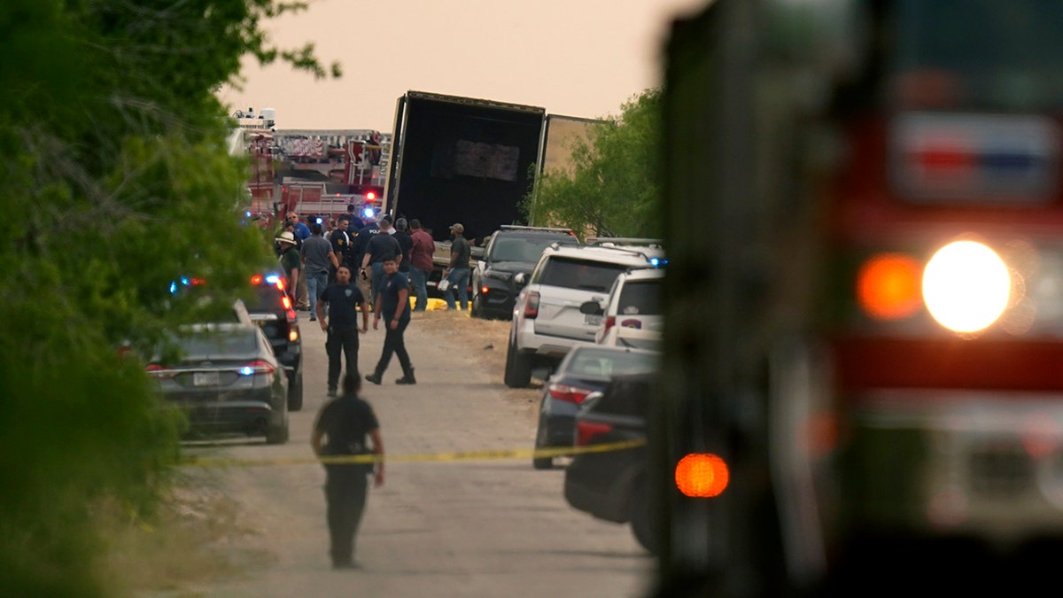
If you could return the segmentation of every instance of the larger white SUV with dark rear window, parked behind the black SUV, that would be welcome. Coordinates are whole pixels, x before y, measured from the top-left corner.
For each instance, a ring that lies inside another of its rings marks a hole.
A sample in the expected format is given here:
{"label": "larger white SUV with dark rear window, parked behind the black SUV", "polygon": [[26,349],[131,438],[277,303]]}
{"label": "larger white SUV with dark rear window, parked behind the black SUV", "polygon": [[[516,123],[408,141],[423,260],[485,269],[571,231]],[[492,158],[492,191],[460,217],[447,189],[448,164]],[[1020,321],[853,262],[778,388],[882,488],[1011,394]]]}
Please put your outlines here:
{"label": "larger white SUV with dark rear window, parked behind the black SUV", "polygon": [[580,306],[604,304],[618,276],[652,268],[661,258],[659,247],[554,245],[543,250],[513,306],[506,386],[527,386],[534,367],[556,367],[573,346],[593,344],[602,316],[585,314]]}

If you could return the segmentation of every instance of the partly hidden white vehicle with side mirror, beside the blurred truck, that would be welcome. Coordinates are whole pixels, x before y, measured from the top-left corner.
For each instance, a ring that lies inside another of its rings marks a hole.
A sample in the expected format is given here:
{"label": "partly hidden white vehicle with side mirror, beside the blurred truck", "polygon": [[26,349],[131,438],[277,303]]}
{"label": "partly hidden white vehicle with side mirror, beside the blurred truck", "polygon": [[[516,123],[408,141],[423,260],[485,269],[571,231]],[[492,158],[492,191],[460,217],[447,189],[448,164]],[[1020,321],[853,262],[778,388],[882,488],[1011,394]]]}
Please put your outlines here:
{"label": "partly hidden white vehicle with side mirror, beside the blurred truck", "polygon": [[634,270],[617,277],[605,301],[587,301],[580,305],[584,314],[602,317],[594,333],[598,345],[660,349],[664,332],[661,310],[661,285],[664,270]]}

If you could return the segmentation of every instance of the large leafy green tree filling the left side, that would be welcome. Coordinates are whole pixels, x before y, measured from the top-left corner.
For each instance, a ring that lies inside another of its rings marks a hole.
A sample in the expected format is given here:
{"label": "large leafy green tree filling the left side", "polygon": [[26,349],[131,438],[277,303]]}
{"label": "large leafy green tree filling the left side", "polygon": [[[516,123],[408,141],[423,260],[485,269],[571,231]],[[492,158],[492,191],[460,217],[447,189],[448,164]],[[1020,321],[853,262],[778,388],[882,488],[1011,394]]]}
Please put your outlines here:
{"label": "large leafy green tree filling the left side", "polygon": [[[141,356],[214,317],[271,265],[237,218],[246,163],[213,89],[240,57],[324,76],[282,51],[272,0],[5,0],[0,9],[0,570],[18,596],[106,593],[92,513],[147,516],[182,421]],[[332,68],[339,74],[338,66]],[[215,299],[174,298],[206,279]],[[119,350],[128,345],[133,350]]]}

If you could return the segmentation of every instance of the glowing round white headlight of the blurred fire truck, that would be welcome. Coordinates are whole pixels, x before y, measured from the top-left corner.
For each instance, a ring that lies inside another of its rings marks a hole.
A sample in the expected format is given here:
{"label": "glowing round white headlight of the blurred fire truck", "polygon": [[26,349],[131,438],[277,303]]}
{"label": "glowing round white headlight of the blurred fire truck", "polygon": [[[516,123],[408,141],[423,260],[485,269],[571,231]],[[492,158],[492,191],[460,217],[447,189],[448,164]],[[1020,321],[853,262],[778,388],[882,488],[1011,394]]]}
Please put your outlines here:
{"label": "glowing round white headlight of the blurred fire truck", "polygon": [[950,243],[930,259],[923,271],[923,300],[942,326],[956,332],[978,332],[1008,306],[1011,277],[1003,260],[973,240]]}

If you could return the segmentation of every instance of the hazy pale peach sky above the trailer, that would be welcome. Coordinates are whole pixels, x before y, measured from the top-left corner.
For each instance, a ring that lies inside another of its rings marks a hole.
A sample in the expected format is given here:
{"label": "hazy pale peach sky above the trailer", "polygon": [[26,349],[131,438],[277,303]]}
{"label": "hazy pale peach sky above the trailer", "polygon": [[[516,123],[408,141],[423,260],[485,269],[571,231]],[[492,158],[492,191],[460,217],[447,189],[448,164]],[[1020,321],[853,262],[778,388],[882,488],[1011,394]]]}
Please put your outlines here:
{"label": "hazy pale peach sky above the trailer", "polygon": [[672,18],[706,0],[310,0],[269,30],[282,48],[314,41],[340,80],[244,62],[232,110],[276,110],[279,129],[390,132],[408,89],[601,117],[660,83]]}

